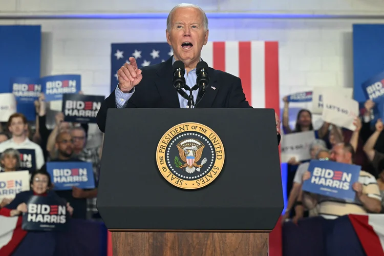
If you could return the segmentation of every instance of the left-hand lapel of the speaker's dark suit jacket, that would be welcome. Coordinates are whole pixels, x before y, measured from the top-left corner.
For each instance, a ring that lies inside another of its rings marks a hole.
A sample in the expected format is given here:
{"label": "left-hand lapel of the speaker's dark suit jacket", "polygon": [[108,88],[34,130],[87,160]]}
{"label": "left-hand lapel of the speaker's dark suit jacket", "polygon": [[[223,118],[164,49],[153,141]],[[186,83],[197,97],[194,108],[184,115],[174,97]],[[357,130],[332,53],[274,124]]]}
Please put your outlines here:
{"label": "left-hand lapel of the speaker's dark suit jacket", "polygon": [[164,108],[180,108],[178,93],[172,85],[173,80],[172,56],[160,66],[157,74],[156,86],[159,91]]}

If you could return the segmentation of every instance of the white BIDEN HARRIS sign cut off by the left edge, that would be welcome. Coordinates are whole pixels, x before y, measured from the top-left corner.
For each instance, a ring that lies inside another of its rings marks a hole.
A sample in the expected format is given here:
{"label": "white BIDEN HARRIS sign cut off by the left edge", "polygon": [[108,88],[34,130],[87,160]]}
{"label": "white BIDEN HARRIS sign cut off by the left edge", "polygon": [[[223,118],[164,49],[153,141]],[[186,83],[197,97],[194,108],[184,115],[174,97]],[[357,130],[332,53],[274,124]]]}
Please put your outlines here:
{"label": "white BIDEN HARRIS sign cut off by the left edge", "polygon": [[16,194],[30,189],[29,171],[0,172],[0,202],[14,199]]}

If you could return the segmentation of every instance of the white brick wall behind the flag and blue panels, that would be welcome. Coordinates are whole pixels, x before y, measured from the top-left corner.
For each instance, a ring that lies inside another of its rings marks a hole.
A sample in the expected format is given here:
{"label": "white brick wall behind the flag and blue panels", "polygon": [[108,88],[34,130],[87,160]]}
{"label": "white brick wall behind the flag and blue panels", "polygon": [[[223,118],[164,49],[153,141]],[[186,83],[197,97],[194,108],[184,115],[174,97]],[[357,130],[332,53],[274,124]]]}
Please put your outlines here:
{"label": "white brick wall behind the flag and blue panels", "polygon": [[[179,1],[0,0],[7,13],[168,12]],[[382,14],[382,0],[198,0],[207,12]],[[148,7],[149,6],[149,7]],[[359,19],[210,19],[211,41],[280,44],[280,93],[313,86],[352,87],[352,25]],[[28,19],[1,24],[42,26],[41,75],[80,73],[84,92],[108,95],[111,43],[165,42],[165,19]]]}

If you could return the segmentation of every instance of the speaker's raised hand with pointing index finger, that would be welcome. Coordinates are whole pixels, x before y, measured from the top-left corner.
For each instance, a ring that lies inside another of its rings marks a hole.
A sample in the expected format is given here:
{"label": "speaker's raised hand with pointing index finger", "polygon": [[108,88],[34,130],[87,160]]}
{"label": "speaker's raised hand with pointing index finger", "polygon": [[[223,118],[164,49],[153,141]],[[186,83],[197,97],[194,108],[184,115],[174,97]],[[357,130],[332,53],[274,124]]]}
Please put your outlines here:
{"label": "speaker's raised hand with pointing index finger", "polygon": [[117,77],[119,80],[120,91],[127,93],[130,92],[134,86],[138,85],[143,78],[141,69],[137,68],[137,63],[134,57],[129,58],[130,64],[125,63],[119,71]]}

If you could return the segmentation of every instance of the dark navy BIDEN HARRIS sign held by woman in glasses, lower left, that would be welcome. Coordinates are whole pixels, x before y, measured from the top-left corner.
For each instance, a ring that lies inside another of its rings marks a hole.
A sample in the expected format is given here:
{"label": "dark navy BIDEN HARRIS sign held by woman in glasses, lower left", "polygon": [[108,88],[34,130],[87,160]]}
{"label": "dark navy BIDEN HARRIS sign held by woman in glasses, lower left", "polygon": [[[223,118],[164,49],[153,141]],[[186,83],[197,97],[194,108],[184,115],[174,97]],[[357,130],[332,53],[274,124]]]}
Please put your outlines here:
{"label": "dark navy BIDEN HARRIS sign held by woman in glasses, lower left", "polygon": [[28,231],[65,231],[68,228],[67,206],[52,195],[32,195],[23,213],[22,229]]}

